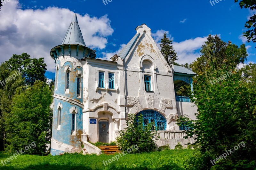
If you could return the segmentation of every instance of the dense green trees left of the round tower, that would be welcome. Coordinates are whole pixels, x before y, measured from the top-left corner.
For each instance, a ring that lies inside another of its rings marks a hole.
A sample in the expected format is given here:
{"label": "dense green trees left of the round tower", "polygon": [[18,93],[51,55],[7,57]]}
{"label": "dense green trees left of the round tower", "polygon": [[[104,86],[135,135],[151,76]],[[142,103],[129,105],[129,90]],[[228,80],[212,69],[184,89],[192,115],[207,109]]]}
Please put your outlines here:
{"label": "dense green trees left of the round tower", "polygon": [[[50,141],[52,94],[44,76],[44,58],[13,55],[0,65],[0,150],[13,152],[35,142],[45,151]],[[6,148],[7,147],[7,148]]]}

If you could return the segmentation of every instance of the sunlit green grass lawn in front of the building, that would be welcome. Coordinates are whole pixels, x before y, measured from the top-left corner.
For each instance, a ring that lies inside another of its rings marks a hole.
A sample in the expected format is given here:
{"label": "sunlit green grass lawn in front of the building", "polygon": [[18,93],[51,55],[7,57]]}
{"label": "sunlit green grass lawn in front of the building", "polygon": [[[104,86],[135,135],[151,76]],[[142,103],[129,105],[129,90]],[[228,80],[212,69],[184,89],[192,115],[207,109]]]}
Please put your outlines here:
{"label": "sunlit green grass lawn in front of the building", "polygon": [[185,160],[193,157],[193,150],[127,154],[119,160],[108,163],[107,166],[104,166],[102,161],[112,159],[115,155],[20,155],[4,166],[1,160],[6,160],[10,156],[12,155],[0,152],[0,169],[184,169]]}

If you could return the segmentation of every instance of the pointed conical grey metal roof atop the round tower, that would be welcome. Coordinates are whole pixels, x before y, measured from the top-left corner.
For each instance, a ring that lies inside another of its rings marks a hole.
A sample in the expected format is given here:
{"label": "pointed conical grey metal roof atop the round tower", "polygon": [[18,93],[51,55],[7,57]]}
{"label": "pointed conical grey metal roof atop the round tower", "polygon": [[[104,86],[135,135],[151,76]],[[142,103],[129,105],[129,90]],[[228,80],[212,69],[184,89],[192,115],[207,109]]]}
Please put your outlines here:
{"label": "pointed conical grey metal roof atop the round tower", "polygon": [[86,47],[84,43],[83,35],[81,33],[80,27],[77,22],[76,13],[73,16],[73,19],[69,25],[68,31],[65,35],[65,38],[61,43],[61,45],[64,45],[64,44],[78,44]]}

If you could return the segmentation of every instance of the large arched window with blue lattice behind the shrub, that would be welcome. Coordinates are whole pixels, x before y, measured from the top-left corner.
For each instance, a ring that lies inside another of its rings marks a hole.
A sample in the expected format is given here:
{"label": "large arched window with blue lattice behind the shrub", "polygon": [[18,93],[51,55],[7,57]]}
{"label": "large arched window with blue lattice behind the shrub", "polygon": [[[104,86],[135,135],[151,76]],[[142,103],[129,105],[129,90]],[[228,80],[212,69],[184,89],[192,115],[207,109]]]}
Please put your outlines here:
{"label": "large arched window with blue lattice behind the shrub", "polygon": [[136,121],[138,122],[139,116],[142,115],[144,119],[144,126],[147,126],[151,122],[153,122],[152,130],[165,130],[166,129],[166,120],[163,115],[154,111],[154,110],[143,110],[138,113],[136,117]]}

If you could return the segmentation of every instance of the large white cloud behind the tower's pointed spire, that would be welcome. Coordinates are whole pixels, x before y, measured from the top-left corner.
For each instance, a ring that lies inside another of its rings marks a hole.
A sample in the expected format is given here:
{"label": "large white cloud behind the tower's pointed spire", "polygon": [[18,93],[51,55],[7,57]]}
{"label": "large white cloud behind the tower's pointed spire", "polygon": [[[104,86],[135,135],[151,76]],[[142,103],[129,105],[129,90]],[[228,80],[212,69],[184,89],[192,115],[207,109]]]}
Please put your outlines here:
{"label": "large white cloud behind the tower's pointed spire", "polygon": [[[61,44],[73,14],[69,9],[58,7],[22,10],[17,0],[6,3],[0,14],[0,62],[8,60],[12,54],[26,52],[31,57],[44,57],[47,70],[54,71],[50,50]],[[97,18],[77,14],[77,18],[86,45],[105,48],[107,37],[114,32],[108,16]]]}

